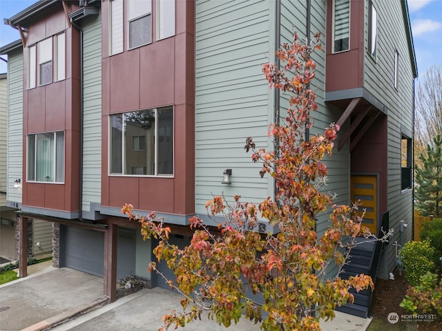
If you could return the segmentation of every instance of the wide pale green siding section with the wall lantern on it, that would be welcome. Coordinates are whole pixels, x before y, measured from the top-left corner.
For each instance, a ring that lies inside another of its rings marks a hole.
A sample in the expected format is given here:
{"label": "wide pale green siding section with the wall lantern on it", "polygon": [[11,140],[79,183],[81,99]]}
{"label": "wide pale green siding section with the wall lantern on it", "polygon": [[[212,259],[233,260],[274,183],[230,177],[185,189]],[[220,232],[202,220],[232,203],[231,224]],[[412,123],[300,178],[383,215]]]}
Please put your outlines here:
{"label": "wide pale green siding section with the wall lantern on it", "polygon": [[[259,202],[269,179],[244,151],[245,138],[269,146],[271,92],[262,64],[273,53],[271,1],[196,1],[195,211],[212,194]],[[232,169],[231,185],[222,172]]]}

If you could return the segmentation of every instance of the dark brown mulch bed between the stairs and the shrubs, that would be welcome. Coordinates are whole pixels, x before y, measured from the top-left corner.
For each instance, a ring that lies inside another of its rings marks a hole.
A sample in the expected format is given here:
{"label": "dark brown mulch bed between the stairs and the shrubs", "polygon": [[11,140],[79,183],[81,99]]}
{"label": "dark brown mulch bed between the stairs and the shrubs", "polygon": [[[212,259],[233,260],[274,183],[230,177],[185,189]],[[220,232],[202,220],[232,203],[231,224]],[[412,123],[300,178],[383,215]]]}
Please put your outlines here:
{"label": "dark brown mulch bed between the stairs and the shrubs", "polygon": [[[405,278],[405,273],[399,275],[398,270],[394,270],[394,281],[376,279],[374,285],[374,294],[372,299],[372,315],[378,319],[387,321],[387,316],[390,312],[396,312],[401,318],[401,314],[410,314],[407,310],[404,310],[399,306],[407,292],[408,282]],[[441,331],[442,330],[442,317],[439,317],[439,321],[434,322],[421,322],[417,323],[419,331]],[[401,322],[398,323],[409,323]],[[416,324],[416,323],[415,323]]]}

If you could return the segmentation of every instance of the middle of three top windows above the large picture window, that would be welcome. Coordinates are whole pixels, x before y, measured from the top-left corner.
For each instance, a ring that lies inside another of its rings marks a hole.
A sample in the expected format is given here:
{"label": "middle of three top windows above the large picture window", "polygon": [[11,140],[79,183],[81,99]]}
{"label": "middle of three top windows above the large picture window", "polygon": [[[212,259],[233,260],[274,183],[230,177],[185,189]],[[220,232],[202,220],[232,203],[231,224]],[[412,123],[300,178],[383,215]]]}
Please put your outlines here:
{"label": "middle of three top windows above the large picture window", "polygon": [[128,49],[140,47],[152,41],[151,1],[128,1]]}

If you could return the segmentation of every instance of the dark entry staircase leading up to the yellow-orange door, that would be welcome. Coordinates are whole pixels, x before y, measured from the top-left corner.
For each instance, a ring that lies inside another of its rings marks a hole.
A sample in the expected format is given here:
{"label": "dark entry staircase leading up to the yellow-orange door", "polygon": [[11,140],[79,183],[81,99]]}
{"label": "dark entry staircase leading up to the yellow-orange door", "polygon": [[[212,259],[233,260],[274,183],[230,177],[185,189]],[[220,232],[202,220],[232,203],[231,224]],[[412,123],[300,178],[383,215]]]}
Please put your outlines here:
{"label": "dark entry staircase leading up to the yellow-orange door", "polygon": [[[388,230],[389,227],[389,213],[384,212],[382,216],[381,229]],[[382,237],[381,229],[378,232],[378,238]],[[358,245],[352,248],[347,265],[344,266],[343,272],[339,274],[342,279],[348,279],[350,276],[358,274],[367,274],[376,281],[376,274],[378,272],[379,261],[381,254],[385,249],[387,243],[381,241],[366,242],[367,239],[357,238]],[[356,292],[356,289],[349,290],[354,295],[354,303],[347,303],[337,307],[339,312],[345,312],[358,317],[367,318],[370,316],[370,305],[372,302],[372,290],[363,290]]]}

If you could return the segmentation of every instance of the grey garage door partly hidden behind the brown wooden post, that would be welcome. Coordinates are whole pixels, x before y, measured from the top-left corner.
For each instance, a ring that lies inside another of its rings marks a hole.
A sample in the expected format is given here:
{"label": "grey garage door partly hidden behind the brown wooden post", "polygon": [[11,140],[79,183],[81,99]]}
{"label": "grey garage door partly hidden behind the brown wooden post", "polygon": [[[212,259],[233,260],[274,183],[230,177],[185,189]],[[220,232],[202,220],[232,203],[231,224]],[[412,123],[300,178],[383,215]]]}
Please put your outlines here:
{"label": "grey garage door partly hidden behind the brown wooden post", "polygon": [[[72,226],[64,229],[63,265],[103,277],[104,232]],[[119,228],[117,247],[117,279],[120,279],[135,273],[135,230]]]}

